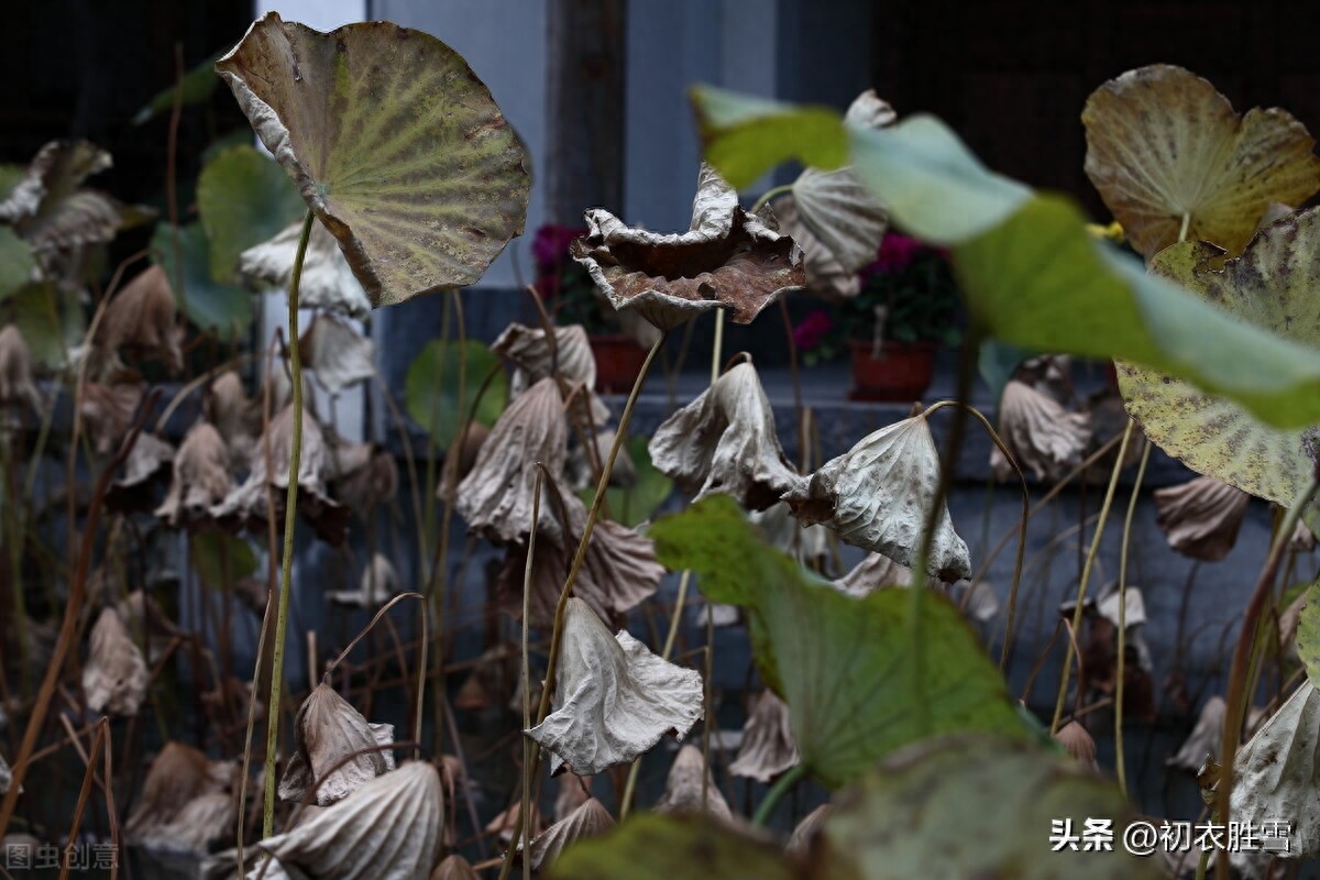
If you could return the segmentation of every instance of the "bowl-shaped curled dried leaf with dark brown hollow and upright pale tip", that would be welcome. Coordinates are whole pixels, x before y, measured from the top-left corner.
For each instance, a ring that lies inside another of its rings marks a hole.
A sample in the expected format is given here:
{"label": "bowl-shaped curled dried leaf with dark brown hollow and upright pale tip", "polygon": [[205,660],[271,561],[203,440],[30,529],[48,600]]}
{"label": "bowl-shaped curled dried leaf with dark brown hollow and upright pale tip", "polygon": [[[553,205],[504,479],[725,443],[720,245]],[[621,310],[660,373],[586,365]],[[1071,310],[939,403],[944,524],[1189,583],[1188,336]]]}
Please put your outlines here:
{"label": "bowl-shaped curled dried leaf with dark brown hollow and upright pale tip", "polygon": [[635,309],[660,330],[696,314],[730,309],[751,323],[762,309],[801,288],[797,245],[738,206],[738,193],[702,162],[692,226],[659,234],[628,228],[603,208],[586,212],[587,236],[570,253],[616,311]]}

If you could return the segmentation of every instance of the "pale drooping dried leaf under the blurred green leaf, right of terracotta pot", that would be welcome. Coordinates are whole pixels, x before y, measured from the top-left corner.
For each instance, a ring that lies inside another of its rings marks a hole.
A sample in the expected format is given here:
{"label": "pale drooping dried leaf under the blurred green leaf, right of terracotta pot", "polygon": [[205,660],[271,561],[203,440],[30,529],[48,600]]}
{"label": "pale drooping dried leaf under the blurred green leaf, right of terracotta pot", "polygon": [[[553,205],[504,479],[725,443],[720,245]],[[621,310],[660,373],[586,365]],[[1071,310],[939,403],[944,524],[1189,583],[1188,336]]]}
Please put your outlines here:
{"label": "pale drooping dried leaf under the blurred green leaf, right of terracotta pot", "polygon": [[[1053,397],[1015,379],[999,398],[999,437],[1024,471],[1053,482],[1081,464],[1090,442],[1090,417],[1068,412]],[[998,446],[990,453],[990,467],[999,482],[1016,476]]]}

